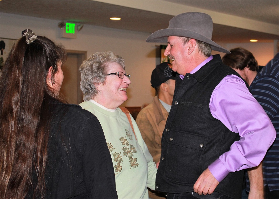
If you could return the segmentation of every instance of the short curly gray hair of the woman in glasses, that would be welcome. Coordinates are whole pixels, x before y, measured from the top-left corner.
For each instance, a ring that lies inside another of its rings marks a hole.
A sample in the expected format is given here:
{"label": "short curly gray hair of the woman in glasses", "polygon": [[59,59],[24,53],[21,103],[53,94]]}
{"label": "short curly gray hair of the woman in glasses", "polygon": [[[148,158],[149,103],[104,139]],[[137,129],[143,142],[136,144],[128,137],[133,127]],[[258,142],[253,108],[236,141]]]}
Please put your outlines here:
{"label": "short curly gray hair of the woman in glasses", "polygon": [[83,92],[83,100],[89,101],[98,95],[95,85],[104,84],[109,63],[118,63],[125,70],[124,59],[111,51],[92,54],[80,65],[81,81],[80,89]]}

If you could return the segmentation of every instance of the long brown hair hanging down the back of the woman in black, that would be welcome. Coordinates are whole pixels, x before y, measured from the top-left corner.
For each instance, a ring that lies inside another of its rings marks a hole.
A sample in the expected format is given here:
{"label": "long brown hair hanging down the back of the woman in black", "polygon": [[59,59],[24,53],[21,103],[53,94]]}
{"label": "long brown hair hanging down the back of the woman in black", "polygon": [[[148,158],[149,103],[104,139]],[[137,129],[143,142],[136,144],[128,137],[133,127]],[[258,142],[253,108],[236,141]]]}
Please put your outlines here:
{"label": "long brown hair hanging down the back of the woman in black", "polygon": [[[52,100],[47,86],[66,50],[44,36],[12,47],[0,77],[0,198],[44,197]],[[35,176],[35,177],[33,177]],[[32,197],[32,196],[31,196]]]}

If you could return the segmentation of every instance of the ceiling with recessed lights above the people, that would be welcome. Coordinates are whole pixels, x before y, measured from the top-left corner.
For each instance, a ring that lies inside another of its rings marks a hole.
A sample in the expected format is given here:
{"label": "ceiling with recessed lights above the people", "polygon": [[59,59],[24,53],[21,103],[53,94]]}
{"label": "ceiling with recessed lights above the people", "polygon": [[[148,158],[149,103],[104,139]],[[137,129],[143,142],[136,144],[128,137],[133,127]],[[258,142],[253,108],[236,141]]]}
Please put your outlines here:
{"label": "ceiling with recessed lights above the people", "polygon": [[[212,40],[279,40],[279,0],[2,0],[0,14],[71,21],[153,33],[176,14],[202,11],[213,18]],[[109,18],[119,16],[120,21]],[[32,22],[31,22],[32,23]]]}

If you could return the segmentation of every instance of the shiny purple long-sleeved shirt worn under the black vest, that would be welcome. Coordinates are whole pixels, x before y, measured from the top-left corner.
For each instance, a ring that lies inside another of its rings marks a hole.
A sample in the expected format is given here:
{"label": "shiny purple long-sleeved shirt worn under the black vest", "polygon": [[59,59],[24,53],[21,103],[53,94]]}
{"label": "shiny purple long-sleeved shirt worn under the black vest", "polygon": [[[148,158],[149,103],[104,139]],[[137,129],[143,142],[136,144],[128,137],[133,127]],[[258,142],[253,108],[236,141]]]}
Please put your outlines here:
{"label": "shiny purple long-sleeved shirt worn under the black vest", "polygon": [[[190,73],[212,59],[211,55]],[[184,75],[180,78],[183,80]],[[236,75],[227,75],[213,90],[209,107],[214,118],[240,136],[229,151],[208,166],[212,175],[220,182],[230,172],[258,166],[275,140],[276,131],[244,81]]]}

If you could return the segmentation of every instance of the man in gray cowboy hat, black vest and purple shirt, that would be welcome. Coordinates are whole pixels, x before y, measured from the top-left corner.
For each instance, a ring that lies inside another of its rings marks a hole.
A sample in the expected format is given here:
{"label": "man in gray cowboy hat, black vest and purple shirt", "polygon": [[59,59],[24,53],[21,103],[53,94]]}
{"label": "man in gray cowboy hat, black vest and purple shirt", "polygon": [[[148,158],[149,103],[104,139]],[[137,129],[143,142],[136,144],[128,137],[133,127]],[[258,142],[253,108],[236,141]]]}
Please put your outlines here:
{"label": "man in gray cowboy hat, black vest and purple shirt", "polygon": [[276,137],[261,105],[240,75],[211,50],[205,13],[182,13],[147,42],[167,42],[176,76],[162,135],[156,190],[168,198],[241,198],[243,170],[257,166]]}

